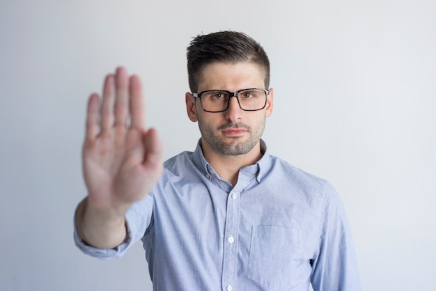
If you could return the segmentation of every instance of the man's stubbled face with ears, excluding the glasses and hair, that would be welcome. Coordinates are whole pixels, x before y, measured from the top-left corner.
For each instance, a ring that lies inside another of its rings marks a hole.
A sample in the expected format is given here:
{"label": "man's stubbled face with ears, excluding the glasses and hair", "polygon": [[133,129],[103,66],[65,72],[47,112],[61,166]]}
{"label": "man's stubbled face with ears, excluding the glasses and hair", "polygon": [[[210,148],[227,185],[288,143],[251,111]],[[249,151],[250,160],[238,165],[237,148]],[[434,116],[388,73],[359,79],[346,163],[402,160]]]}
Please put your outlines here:
{"label": "man's stubbled face with ears, excluding the glasses and hair", "polygon": [[[212,63],[203,69],[198,92],[226,90],[230,92],[248,88],[264,88],[265,77],[253,63]],[[210,113],[201,109],[200,100],[186,94],[189,119],[198,121],[204,150],[220,155],[245,155],[258,150],[260,136],[265,128],[265,118],[272,113],[272,90],[267,105],[259,111],[240,109],[238,100],[231,98],[224,112]]]}

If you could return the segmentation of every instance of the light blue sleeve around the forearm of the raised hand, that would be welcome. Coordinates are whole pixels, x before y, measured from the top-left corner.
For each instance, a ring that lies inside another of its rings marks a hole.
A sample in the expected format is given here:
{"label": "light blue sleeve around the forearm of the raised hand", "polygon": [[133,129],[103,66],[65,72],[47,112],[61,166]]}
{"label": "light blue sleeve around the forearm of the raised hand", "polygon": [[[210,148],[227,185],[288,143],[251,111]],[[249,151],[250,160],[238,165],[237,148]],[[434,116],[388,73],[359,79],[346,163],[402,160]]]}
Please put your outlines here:
{"label": "light blue sleeve around the forearm of the raised hand", "polygon": [[[74,240],[80,251],[95,258],[107,260],[111,258],[121,258],[127,249],[141,239],[146,233],[153,215],[153,198],[147,195],[142,200],[132,204],[125,214],[126,237],[124,241],[114,249],[98,249],[84,242],[77,233],[76,223],[74,224]],[[74,219],[76,221],[76,219]]]}

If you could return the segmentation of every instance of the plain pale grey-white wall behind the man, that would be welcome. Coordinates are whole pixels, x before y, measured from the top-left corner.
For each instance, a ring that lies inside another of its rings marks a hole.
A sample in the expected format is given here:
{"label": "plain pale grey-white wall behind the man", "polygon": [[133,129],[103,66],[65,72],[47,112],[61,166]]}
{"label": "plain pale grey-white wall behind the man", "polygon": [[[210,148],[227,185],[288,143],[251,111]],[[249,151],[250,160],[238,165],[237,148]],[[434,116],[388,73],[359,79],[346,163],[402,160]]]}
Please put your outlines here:
{"label": "plain pale grey-white wall behind the man", "polygon": [[435,290],[436,2],[0,3],[0,290],[151,290],[141,244],[80,253],[86,100],[125,65],[146,86],[164,157],[194,150],[185,49],[232,29],[270,56],[270,152],[341,194],[362,288]]}

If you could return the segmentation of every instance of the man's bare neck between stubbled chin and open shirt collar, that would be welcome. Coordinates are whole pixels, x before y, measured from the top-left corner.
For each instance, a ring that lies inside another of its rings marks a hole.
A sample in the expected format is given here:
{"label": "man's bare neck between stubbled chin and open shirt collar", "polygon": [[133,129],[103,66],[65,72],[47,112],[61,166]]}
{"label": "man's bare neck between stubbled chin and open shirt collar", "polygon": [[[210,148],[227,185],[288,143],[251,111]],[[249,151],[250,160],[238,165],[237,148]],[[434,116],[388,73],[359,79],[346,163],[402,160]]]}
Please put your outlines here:
{"label": "man's bare neck between stubbled chin and open shirt collar", "polygon": [[244,155],[223,155],[213,150],[208,143],[202,143],[203,156],[212,166],[219,177],[230,182],[233,186],[238,182],[238,175],[241,168],[256,164],[263,156],[260,151],[260,143],[256,144],[247,154]]}

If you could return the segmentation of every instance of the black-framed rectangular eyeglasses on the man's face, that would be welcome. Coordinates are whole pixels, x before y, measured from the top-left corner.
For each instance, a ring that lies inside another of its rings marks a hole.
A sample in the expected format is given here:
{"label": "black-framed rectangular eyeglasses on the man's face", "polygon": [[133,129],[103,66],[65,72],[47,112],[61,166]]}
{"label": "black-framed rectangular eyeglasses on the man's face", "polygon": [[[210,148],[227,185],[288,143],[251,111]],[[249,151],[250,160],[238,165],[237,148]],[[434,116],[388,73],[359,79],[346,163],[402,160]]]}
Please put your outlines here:
{"label": "black-framed rectangular eyeglasses on the man's face", "polygon": [[206,112],[224,112],[230,105],[231,97],[236,97],[240,108],[244,111],[258,111],[267,104],[267,89],[244,89],[236,92],[225,90],[208,90],[201,93],[192,92],[194,97],[200,99],[201,108]]}

